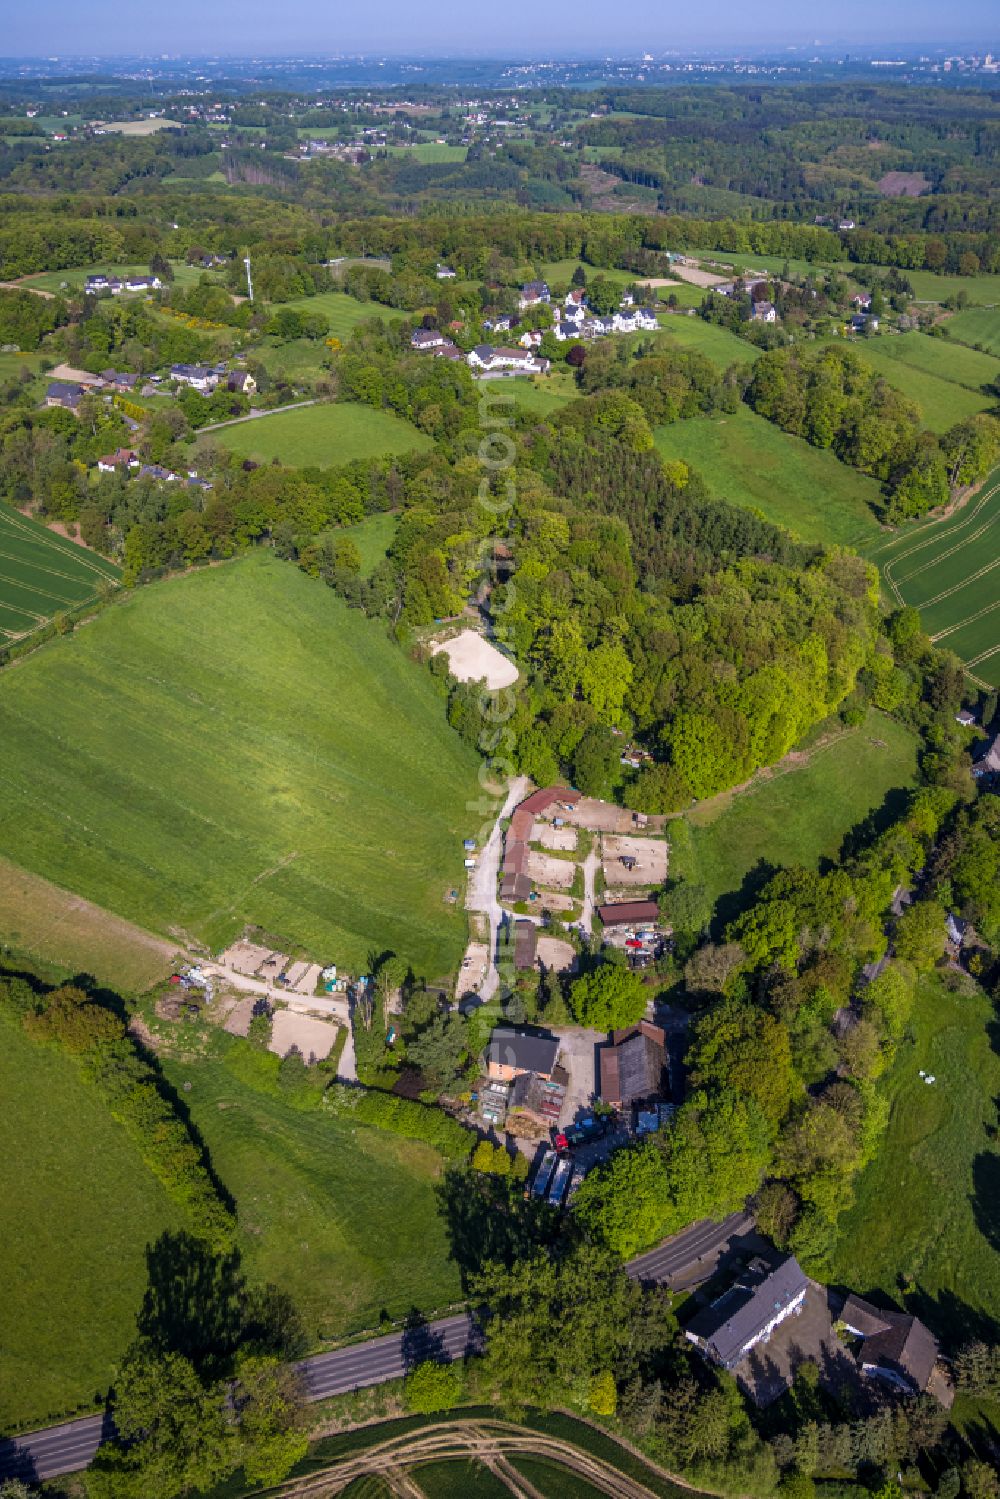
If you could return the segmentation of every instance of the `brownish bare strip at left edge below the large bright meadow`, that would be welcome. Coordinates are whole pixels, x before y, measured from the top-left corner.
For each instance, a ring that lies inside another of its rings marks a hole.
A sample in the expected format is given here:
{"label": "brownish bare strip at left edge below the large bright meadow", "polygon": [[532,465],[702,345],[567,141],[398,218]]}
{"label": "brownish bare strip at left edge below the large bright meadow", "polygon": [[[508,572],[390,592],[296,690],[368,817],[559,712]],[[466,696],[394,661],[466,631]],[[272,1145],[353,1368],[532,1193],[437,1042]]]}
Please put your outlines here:
{"label": "brownish bare strip at left edge below the large bright meadow", "polygon": [[142,991],[175,967],[183,950],[100,905],[0,859],[0,940],[13,953],[90,973],[123,992]]}

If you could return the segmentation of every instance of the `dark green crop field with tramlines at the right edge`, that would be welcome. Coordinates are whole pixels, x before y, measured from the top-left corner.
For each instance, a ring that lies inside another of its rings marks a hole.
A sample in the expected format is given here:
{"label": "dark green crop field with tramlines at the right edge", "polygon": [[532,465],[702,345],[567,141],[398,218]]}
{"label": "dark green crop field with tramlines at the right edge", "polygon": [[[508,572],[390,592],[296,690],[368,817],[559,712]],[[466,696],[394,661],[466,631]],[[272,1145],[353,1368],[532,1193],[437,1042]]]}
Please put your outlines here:
{"label": "dark green crop field with tramlines at the right edge", "polygon": [[952,516],[907,526],[865,555],[888,597],[921,610],[931,640],[975,682],[1000,687],[1000,469]]}

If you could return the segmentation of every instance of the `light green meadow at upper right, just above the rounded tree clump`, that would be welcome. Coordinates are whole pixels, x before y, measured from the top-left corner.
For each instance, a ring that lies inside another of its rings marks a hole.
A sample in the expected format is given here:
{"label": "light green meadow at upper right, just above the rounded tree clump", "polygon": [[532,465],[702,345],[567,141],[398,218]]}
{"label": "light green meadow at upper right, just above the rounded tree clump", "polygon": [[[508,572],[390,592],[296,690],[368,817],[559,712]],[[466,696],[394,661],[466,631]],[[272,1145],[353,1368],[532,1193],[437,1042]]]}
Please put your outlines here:
{"label": "light green meadow at upper right, just above the rounded tree clump", "polygon": [[[837,345],[844,348],[844,340]],[[931,432],[948,432],[957,421],[997,405],[997,397],[982,390],[1000,375],[1000,363],[987,354],[928,339],[925,333],[855,339],[850,348],[916,402]]]}

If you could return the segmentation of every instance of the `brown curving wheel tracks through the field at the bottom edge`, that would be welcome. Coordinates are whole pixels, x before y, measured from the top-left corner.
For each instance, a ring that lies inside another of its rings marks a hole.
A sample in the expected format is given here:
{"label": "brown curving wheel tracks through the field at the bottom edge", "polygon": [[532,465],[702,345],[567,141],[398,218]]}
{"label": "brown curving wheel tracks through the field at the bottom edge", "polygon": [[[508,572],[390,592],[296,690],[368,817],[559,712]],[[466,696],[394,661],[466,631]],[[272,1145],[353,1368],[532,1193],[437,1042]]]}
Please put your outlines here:
{"label": "brown curving wheel tracks through the field at the bottom edge", "polygon": [[[514,1499],[544,1499],[540,1490],[511,1465],[511,1457],[547,1459],[585,1478],[610,1499],[661,1499],[661,1492],[657,1493],[655,1489],[630,1478],[571,1442],[492,1420],[456,1420],[408,1432],[345,1457],[321,1474],[283,1484],[271,1493],[280,1495],[282,1499],[331,1499],[343,1493],[354,1480],[378,1475],[394,1495],[423,1499],[420,1465],[465,1459],[478,1462],[495,1474]],[[643,1462],[651,1469],[651,1478],[655,1474],[670,1484],[688,1487],[673,1474],[654,1471],[646,1459]]]}

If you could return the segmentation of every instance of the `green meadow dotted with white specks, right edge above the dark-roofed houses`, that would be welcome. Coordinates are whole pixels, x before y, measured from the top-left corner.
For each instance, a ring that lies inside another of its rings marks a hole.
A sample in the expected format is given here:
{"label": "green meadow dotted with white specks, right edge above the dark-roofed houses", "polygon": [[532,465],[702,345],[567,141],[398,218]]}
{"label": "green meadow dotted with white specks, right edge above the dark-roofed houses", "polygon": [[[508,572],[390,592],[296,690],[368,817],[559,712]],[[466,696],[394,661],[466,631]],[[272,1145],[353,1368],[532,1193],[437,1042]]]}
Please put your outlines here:
{"label": "green meadow dotted with white specks, right edge above the dark-roofed houses", "polygon": [[[1000,1322],[1000,1055],[984,994],[921,980],[912,1037],[888,1078],[889,1127],[840,1220],[831,1279],[882,1291],[925,1318],[951,1352]],[[921,1069],[937,1082],[927,1085]],[[892,1211],[886,1211],[886,1204]],[[990,1336],[990,1334],[988,1334]],[[996,1333],[993,1334],[996,1336]]]}

